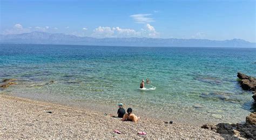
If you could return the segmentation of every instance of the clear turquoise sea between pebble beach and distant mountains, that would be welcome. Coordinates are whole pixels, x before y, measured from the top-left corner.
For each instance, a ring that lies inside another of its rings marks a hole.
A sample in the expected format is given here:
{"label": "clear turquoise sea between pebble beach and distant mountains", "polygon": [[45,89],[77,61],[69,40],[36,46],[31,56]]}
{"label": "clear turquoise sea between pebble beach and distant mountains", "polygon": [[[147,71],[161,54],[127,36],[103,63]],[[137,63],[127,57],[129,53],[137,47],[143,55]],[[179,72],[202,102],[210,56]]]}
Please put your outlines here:
{"label": "clear turquoise sea between pebble beach and distant mountains", "polygon": [[[179,123],[236,123],[253,111],[237,72],[256,76],[255,48],[0,45],[1,93]],[[142,79],[152,82],[140,90]],[[50,81],[54,82],[51,83]]]}

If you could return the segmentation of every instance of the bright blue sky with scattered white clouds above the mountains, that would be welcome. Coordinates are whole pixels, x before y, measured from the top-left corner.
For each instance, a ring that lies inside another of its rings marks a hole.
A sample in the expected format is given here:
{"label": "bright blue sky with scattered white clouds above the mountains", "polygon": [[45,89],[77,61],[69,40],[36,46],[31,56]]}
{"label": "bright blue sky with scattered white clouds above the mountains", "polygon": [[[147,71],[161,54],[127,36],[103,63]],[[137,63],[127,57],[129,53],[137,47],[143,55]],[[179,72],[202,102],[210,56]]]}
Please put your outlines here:
{"label": "bright blue sky with scattered white clouds above the mountains", "polygon": [[0,0],[0,33],[256,42],[256,1]]}

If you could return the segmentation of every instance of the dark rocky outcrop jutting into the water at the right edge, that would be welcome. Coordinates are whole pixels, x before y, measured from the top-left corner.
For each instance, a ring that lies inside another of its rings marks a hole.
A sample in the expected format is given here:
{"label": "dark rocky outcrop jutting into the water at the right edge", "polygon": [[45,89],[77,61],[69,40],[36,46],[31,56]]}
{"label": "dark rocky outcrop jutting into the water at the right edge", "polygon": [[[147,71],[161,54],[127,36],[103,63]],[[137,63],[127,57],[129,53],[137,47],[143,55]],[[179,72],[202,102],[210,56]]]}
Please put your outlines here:
{"label": "dark rocky outcrop jutting into the water at the right edge", "polygon": [[252,90],[254,92],[256,91],[256,78],[247,76],[242,73],[237,73],[237,76],[239,79],[241,79],[240,84],[241,84],[242,89]]}

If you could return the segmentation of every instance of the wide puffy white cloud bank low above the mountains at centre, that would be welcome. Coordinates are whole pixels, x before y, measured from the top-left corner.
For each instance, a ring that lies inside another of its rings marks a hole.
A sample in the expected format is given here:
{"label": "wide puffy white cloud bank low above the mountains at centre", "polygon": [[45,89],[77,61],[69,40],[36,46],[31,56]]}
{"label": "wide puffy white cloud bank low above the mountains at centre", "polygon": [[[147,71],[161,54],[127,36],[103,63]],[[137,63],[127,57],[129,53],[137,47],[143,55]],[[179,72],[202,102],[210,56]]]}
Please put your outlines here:
{"label": "wide puffy white cloud bank low above the mountains at centre", "polygon": [[99,26],[92,33],[93,37],[157,37],[158,32],[150,24],[146,24],[144,29],[139,31],[133,29],[122,29],[120,27],[102,27]]}

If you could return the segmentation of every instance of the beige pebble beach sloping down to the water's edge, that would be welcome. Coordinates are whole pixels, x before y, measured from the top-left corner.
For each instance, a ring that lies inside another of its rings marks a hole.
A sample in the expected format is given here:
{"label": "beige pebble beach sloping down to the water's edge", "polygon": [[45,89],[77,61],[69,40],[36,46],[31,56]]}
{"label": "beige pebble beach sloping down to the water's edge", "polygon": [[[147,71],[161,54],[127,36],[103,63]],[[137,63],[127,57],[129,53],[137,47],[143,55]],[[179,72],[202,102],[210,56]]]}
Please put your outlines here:
{"label": "beige pebble beach sloping down to the water's edge", "polygon": [[[97,111],[0,95],[0,139],[4,138],[232,138],[189,124],[142,117],[122,122]],[[113,130],[122,134],[116,134]],[[138,131],[147,135],[140,136]]]}

